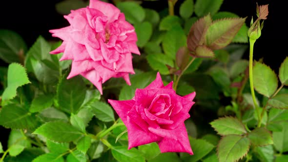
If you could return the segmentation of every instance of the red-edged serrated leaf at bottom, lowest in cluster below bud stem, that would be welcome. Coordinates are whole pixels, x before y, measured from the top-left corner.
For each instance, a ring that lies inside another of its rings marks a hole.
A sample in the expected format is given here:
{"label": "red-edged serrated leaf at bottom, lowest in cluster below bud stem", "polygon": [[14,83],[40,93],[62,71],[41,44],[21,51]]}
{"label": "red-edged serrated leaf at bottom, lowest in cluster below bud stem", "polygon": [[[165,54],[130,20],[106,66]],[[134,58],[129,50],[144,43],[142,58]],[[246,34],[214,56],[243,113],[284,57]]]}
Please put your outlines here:
{"label": "red-edged serrated leaf at bottom, lowest in cluster below bud stem", "polygon": [[217,148],[219,162],[235,162],[246,156],[250,141],[240,135],[224,136]]}

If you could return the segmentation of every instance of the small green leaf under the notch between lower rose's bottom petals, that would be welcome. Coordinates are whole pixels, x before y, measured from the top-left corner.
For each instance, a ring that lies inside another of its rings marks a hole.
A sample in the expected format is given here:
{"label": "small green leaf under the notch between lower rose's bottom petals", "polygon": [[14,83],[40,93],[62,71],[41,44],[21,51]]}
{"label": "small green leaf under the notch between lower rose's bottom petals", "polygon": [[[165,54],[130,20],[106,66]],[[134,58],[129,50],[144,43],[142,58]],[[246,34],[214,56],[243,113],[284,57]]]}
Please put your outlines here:
{"label": "small green leaf under the notch between lower rose's bottom petals", "polygon": [[146,160],[151,160],[157,157],[161,152],[156,142],[138,146],[139,151],[144,155]]}

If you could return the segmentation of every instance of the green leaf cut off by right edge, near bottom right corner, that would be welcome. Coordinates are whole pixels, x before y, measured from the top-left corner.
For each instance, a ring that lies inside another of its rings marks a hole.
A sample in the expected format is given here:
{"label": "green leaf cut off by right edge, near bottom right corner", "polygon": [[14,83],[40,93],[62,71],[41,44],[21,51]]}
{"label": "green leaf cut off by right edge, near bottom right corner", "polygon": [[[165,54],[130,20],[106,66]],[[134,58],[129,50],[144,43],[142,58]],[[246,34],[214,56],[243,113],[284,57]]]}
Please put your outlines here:
{"label": "green leaf cut off by right edge, near bottom right corner", "polygon": [[276,150],[282,153],[288,151],[288,122],[284,121],[280,124],[283,129],[279,132],[273,132],[273,141]]}

